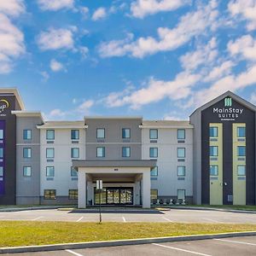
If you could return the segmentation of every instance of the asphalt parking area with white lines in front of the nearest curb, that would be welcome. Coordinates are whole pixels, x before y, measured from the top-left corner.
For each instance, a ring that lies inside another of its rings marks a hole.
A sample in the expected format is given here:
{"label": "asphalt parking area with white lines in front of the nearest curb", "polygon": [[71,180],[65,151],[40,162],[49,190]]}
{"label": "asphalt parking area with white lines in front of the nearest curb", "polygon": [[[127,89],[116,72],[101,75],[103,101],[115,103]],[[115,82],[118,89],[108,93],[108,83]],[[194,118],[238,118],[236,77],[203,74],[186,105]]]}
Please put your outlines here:
{"label": "asphalt parking area with white lines in front of the nearest curb", "polygon": [[[6,254],[13,255],[13,254]],[[201,241],[176,241],[166,243],[152,243],[136,246],[101,247],[79,250],[65,250],[45,253],[18,253],[15,255],[41,256],[127,256],[127,255],[256,255],[256,236],[233,237]]]}

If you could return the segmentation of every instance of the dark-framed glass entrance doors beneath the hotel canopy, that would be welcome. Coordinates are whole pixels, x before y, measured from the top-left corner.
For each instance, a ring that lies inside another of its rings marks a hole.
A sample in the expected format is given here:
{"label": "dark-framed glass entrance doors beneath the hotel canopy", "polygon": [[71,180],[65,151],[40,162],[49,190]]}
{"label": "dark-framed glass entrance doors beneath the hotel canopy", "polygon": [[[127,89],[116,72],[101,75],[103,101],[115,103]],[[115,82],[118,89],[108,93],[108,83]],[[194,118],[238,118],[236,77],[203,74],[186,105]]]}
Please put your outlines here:
{"label": "dark-framed glass entrance doors beneath the hotel canopy", "polygon": [[[100,203],[100,193],[95,189],[95,205]],[[103,188],[102,205],[133,205],[133,188]]]}

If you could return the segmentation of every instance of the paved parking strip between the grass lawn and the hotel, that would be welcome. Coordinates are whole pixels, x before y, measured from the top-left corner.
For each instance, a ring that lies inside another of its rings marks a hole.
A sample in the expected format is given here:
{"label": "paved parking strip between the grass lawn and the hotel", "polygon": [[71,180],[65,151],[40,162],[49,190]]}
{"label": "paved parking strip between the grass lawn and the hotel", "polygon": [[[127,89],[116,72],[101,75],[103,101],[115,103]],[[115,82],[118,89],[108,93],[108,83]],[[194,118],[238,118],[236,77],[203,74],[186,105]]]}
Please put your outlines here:
{"label": "paved parking strip between the grass lawn and the hotel", "polygon": [[[97,222],[99,213],[59,211],[57,209],[21,212],[0,212],[0,220]],[[255,213],[218,212],[204,210],[171,209],[170,211],[117,210],[102,212],[105,222],[183,222],[183,223],[226,223],[256,224]]]}

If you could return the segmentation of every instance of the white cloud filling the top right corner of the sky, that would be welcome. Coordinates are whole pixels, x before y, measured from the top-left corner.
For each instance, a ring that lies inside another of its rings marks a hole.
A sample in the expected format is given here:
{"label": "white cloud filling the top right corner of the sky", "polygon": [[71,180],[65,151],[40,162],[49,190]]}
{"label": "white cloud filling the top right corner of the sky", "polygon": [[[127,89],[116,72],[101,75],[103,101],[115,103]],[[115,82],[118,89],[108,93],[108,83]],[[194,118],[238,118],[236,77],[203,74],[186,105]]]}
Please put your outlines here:
{"label": "white cloud filling the top right corner of the sky", "polygon": [[247,30],[256,29],[256,0],[232,0],[228,5],[232,16],[241,15],[247,20]]}

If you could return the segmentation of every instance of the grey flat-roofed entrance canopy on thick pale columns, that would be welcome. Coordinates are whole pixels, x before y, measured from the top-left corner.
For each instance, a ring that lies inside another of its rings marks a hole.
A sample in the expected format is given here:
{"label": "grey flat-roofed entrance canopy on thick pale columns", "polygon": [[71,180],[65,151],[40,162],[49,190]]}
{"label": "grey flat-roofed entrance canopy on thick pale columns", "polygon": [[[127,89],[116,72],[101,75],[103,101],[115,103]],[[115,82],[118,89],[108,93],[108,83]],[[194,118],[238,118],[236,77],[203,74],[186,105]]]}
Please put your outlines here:
{"label": "grey flat-roofed entrance canopy on thick pale columns", "polygon": [[73,167],[79,172],[79,208],[85,208],[89,201],[96,201],[95,183],[98,179],[103,181],[107,191],[107,203],[122,203],[125,195],[125,201],[132,197],[133,205],[142,202],[144,208],[150,207],[150,171],[155,166],[156,160],[73,160]]}

